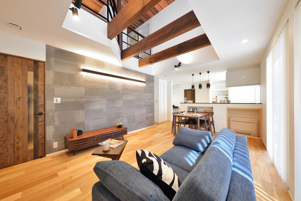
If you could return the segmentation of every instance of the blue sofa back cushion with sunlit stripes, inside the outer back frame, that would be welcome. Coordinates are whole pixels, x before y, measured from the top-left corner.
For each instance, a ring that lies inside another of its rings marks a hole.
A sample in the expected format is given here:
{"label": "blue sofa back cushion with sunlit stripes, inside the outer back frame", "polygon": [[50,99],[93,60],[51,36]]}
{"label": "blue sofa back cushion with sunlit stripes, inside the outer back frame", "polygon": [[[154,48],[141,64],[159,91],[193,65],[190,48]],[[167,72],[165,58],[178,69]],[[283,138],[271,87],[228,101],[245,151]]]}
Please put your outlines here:
{"label": "blue sofa back cushion with sunlit stripes, inside the outer back frame", "polygon": [[235,146],[235,132],[224,128],[214,138],[173,200],[226,200]]}

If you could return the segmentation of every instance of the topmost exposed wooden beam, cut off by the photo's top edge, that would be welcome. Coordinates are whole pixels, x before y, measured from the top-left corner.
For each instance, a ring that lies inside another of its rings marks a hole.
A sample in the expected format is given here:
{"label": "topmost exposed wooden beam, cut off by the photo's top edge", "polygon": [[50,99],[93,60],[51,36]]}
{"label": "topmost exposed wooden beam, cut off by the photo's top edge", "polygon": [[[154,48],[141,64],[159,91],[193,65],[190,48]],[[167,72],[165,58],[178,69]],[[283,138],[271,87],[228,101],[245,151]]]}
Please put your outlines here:
{"label": "topmost exposed wooden beam, cut off by the photo's top edge", "polygon": [[131,0],[108,23],[108,38],[113,39],[161,0]]}

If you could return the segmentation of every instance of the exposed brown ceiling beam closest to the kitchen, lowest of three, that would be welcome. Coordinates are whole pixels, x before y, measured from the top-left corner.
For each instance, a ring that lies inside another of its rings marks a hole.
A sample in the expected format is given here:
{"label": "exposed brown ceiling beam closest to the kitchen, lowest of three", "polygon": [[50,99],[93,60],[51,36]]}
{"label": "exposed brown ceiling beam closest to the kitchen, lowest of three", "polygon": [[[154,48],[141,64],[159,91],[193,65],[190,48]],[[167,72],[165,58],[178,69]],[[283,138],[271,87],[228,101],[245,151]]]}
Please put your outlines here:
{"label": "exposed brown ceiling beam closest to the kitchen, lowest of three", "polygon": [[211,45],[206,34],[202,34],[190,40],[187,40],[178,45],[172,46],[170,48],[164,49],[161,52],[155,53],[151,56],[147,56],[139,60],[139,67],[144,67],[159,61],[167,60],[172,57],[191,52],[196,49],[200,49]]}

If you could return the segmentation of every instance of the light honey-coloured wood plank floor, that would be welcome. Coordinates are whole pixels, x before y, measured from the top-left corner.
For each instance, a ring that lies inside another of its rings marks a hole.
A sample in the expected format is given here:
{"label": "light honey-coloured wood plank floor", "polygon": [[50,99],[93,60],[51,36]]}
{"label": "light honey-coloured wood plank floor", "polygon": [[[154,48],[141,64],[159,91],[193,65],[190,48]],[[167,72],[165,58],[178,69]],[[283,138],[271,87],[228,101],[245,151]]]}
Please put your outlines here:
{"label": "light honey-coloured wood plank floor", "polygon": [[[136,149],[161,155],[171,148],[171,121],[125,135],[129,140],[120,160],[138,168]],[[257,200],[291,200],[260,139],[248,138]],[[0,200],[91,200],[91,189],[99,179],[96,162],[111,160],[92,156],[99,146],[64,152],[0,169]]]}

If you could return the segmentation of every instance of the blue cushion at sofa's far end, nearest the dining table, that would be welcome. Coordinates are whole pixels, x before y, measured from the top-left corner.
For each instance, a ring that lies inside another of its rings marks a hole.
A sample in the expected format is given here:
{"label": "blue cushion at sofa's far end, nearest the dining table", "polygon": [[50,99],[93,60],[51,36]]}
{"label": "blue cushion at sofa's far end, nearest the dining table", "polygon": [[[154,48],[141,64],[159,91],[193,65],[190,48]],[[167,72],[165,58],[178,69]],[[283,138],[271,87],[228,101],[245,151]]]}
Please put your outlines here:
{"label": "blue cushion at sofa's far end, nearest the dining table", "polygon": [[180,126],[172,144],[203,152],[210,145],[213,133]]}

